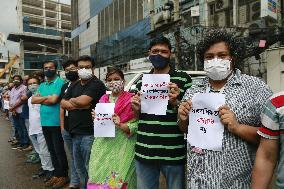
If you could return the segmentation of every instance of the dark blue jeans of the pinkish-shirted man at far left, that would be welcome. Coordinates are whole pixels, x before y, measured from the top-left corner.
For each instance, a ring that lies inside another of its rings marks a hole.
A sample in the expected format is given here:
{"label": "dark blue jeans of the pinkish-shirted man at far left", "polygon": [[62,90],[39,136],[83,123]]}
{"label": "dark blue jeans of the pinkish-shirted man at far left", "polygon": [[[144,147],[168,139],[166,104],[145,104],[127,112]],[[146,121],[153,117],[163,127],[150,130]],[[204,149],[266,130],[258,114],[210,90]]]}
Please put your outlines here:
{"label": "dark blue jeans of the pinkish-shirted man at far left", "polygon": [[25,125],[25,119],[21,117],[20,114],[13,115],[13,124],[15,129],[18,132],[20,144],[28,145],[29,144],[29,136],[28,131]]}

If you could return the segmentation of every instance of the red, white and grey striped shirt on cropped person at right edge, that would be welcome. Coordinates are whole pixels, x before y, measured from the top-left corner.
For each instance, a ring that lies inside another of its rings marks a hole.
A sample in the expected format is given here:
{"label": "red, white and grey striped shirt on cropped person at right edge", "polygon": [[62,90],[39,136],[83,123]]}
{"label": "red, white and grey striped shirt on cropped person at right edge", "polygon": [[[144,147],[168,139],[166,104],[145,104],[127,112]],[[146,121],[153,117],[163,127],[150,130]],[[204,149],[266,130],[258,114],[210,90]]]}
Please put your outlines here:
{"label": "red, white and grey striped shirt on cropped person at right edge", "polygon": [[275,94],[266,103],[261,122],[263,126],[257,133],[267,139],[279,140],[280,158],[276,186],[284,188],[284,91]]}

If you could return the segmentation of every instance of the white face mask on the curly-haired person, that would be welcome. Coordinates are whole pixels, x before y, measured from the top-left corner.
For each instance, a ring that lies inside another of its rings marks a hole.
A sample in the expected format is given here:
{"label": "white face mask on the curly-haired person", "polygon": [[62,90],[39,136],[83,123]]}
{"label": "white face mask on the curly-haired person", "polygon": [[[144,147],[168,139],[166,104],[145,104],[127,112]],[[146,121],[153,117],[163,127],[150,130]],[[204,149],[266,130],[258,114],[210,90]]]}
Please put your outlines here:
{"label": "white face mask on the curly-haired person", "polygon": [[223,80],[232,72],[231,61],[218,58],[206,60],[204,61],[204,71],[214,81]]}

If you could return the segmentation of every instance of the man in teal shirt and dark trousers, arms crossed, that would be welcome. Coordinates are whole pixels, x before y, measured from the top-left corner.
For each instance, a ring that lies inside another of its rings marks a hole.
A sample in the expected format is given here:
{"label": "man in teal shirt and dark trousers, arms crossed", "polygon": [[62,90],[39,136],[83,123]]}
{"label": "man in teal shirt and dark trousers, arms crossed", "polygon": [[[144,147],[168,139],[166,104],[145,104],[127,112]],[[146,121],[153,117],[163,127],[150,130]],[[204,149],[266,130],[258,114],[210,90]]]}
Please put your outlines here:
{"label": "man in teal shirt and dark trousers, arms crossed", "polygon": [[68,181],[68,162],[60,129],[60,93],[64,81],[57,76],[57,64],[46,61],[43,64],[46,81],[41,83],[32,97],[32,104],[41,104],[40,121],[42,132],[54,167],[53,177],[45,186],[60,188]]}

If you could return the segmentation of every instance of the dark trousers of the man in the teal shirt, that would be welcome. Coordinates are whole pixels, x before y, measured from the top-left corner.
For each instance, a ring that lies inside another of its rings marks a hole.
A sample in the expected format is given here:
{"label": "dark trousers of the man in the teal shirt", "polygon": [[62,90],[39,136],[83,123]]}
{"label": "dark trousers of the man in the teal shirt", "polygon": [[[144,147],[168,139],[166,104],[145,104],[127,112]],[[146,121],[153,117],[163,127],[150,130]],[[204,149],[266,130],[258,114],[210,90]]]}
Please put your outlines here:
{"label": "dark trousers of the man in the teal shirt", "polygon": [[54,176],[68,176],[68,162],[64,149],[64,142],[59,126],[42,126],[51,161],[54,167]]}

